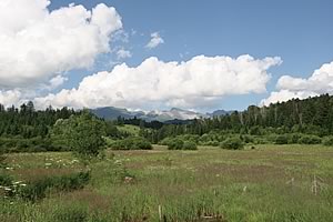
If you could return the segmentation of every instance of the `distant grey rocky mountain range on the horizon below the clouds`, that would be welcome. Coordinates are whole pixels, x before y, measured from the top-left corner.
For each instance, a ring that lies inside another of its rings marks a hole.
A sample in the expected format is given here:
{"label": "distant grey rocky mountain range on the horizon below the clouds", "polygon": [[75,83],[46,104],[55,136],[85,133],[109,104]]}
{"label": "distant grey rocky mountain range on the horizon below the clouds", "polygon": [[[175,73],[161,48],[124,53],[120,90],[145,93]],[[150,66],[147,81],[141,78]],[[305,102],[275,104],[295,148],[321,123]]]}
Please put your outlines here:
{"label": "distant grey rocky mountain range on the horizon below the clouds", "polygon": [[122,117],[125,119],[132,119],[137,117],[138,119],[142,119],[145,121],[160,121],[167,122],[172,120],[193,120],[200,118],[212,118],[218,115],[225,115],[231,113],[232,111],[225,110],[216,110],[212,113],[200,113],[190,110],[183,110],[179,108],[172,108],[169,111],[129,111],[127,109],[114,108],[114,107],[105,107],[105,108],[97,108],[91,110],[92,113],[100,118],[104,118],[105,120],[115,120],[118,117]]}

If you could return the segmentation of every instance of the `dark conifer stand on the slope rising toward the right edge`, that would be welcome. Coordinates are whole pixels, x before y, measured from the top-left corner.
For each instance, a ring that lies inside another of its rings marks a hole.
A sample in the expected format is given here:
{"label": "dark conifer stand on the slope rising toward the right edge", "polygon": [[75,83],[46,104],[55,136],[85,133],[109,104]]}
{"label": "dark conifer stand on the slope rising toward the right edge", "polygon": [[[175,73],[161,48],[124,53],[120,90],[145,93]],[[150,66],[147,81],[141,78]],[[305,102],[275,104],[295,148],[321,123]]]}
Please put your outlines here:
{"label": "dark conifer stand on the slope rising toward the right edge", "polygon": [[158,130],[142,130],[152,142],[180,134],[202,135],[212,130],[262,134],[300,132],[320,137],[333,133],[333,97],[322,94],[305,100],[292,99],[269,107],[250,105],[245,111],[211,119],[195,119],[188,124],[163,124]]}

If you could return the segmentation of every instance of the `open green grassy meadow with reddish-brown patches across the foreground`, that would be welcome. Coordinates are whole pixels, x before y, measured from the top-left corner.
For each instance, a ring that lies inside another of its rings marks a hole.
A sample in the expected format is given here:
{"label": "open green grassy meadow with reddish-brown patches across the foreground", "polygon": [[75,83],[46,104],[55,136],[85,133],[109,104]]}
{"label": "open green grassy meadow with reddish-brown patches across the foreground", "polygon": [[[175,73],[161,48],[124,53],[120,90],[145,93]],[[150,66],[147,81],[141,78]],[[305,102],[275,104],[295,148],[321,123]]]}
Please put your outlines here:
{"label": "open green grassy meadow with reddish-brown patches across the foreground", "polygon": [[[7,159],[16,180],[87,168],[70,153]],[[333,149],[107,151],[84,189],[1,199],[0,221],[333,221]],[[316,191],[315,191],[316,190]]]}

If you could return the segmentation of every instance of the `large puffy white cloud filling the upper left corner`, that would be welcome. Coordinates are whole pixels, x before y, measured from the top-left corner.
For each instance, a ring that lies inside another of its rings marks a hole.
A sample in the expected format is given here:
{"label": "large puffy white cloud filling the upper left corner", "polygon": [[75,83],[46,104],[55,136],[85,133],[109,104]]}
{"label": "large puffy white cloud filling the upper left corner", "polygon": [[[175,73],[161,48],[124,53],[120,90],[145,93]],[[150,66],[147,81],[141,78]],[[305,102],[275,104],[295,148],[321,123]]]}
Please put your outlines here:
{"label": "large puffy white cloud filling the upper left corner", "polygon": [[98,54],[110,51],[112,33],[122,28],[115,9],[103,3],[92,10],[70,4],[53,11],[49,4],[0,1],[0,89],[31,87],[89,68]]}

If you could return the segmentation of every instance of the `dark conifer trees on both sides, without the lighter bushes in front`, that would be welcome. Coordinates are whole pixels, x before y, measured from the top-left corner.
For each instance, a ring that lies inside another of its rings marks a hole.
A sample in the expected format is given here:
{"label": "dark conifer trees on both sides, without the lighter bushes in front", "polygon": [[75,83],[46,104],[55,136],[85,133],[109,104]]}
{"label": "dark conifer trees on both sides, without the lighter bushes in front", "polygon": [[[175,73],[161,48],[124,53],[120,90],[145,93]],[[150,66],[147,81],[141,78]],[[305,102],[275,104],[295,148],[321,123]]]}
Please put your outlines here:
{"label": "dark conifer trees on both sides, without the lighter bushes in front", "polygon": [[[32,102],[19,108],[0,104],[0,148],[50,148],[54,141],[50,132],[60,119],[79,115],[82,111],[72,109],[36,110]],[[92,114],[91,114],[92,115]],[[305,100],[292,99],[269,107],[250,105],[245,111],[211,119],[194,119],[183,122],[147,122],[141,119],[118,118],[103,121],[104,135],[123,139],[128,135],[117,129],[117,124],[140,127],[140,134],[153,143],[182,134],[203,135],[211,131],[261,135],[265,133],[305,133],[319,137],[333,133],[333,95],[322,94]]]}

